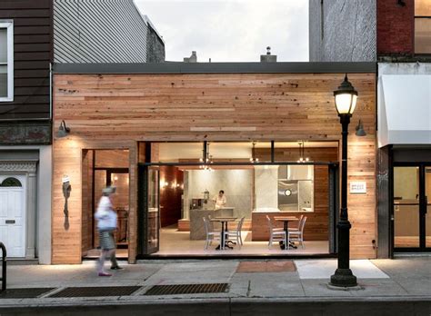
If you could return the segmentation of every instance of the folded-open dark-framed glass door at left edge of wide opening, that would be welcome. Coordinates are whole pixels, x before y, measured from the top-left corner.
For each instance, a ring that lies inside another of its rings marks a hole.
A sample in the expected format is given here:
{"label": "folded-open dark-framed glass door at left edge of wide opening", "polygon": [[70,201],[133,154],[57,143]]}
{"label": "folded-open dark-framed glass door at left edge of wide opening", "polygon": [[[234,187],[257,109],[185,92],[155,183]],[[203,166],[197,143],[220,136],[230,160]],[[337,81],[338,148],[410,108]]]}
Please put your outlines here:
{"label": "folded-open dark-framed glass door at left edge of wide opening", "polygon": [[159,171],[156,167],[139,168],[141,199],[141,252],[144,255],[159,251]]}

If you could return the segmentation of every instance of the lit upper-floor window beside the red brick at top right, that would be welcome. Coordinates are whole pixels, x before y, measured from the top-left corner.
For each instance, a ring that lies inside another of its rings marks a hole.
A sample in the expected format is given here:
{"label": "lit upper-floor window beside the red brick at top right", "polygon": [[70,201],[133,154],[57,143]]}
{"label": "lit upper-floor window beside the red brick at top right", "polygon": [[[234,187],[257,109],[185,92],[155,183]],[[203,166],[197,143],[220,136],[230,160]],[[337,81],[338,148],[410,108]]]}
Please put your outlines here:
{"label": "lit upper-floor window beside the red brick at top right", "polygon": [[415,0],[415,53],[431,54],[430,0]]}

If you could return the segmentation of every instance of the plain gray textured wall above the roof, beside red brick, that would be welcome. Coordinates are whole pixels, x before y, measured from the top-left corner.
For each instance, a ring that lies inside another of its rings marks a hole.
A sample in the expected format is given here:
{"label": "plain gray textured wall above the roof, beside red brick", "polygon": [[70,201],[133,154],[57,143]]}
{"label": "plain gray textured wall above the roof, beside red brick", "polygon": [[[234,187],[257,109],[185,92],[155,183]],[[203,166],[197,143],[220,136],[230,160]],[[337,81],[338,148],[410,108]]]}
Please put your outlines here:
{"label": "plain gray textured wall above the roof, beside red brick", "polygon": [[310,62],[376,61],[376,0],[309,0]]}

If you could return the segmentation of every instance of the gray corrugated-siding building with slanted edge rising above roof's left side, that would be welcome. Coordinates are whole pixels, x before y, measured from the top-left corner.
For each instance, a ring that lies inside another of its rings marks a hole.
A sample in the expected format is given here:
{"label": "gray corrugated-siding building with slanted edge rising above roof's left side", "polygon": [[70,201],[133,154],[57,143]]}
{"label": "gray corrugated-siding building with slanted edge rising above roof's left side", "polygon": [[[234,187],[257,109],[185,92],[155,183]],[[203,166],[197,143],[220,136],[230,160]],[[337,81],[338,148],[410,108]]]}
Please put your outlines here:
{"label": "gray corrugated-siding building with slanted edge rising above roof's left side", "polygon": [[164,62],[165,44],[133,0],[54,0],[54,62]]}

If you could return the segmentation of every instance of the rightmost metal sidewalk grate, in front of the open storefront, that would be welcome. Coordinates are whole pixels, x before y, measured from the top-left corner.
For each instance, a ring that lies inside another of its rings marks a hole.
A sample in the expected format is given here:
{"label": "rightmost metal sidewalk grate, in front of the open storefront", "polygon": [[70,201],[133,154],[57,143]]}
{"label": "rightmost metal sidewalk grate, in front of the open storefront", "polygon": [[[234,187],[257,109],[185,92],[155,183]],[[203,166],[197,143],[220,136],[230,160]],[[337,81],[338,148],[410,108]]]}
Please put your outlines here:
{"label": "rightmost metal sidewalk grate, in front of the open storefront", "polygon": [[155,285],[144,295],[223,293],[227,291],[227,286],[227,283]]}

